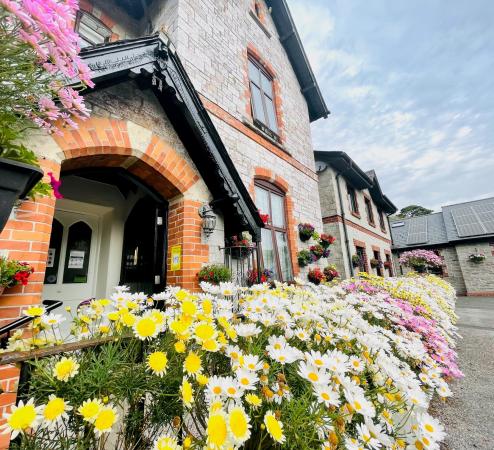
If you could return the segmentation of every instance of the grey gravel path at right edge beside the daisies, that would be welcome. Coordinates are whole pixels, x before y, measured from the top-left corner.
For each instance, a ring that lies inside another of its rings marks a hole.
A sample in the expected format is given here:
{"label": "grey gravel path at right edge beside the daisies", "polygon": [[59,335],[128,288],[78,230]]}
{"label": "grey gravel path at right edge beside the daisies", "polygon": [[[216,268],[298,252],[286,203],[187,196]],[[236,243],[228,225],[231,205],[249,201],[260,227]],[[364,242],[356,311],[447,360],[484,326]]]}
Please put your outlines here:
{"label": "grey gravel path at right edge beside the daisies", "polygon": [[452,398],[432,409],[448,433],[442,449],[494,450],[494,298],[461,297],[456,308],[465,378],[452,383]]}

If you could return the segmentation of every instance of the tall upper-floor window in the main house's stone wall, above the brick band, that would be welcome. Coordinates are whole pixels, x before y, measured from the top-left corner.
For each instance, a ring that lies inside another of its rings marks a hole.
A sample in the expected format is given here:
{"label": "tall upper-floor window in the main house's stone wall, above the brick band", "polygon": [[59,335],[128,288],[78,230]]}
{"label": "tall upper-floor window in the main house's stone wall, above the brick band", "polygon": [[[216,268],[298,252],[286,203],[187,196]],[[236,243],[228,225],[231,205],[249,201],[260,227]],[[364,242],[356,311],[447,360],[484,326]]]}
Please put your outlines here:
{"label": "tall upper-floor window in the main house's stone wall, above the brick band", "polygon": [[249,87],[255,124],[263,131],[278,135],[273,78],[258,61],[251,57],[249,57]]}

